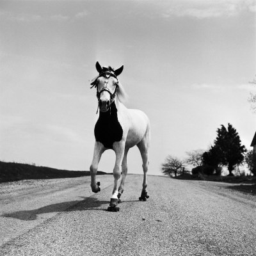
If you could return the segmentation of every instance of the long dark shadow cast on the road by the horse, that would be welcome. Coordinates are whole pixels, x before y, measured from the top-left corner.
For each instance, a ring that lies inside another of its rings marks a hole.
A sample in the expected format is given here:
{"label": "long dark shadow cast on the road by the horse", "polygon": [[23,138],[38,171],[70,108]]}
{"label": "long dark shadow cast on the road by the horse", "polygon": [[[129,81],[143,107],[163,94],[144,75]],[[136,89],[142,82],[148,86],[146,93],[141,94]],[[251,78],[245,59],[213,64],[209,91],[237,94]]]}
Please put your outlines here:
{"label": "long dark shadow cast on the road by the horse", "polygon": [[75,200],[70,202],[62,202],[58,204],[46,205],[34,210],[9,212],[1,215],[1,217],[16,218],[19,220],[36,220],[38,215],[50,212],[64,212],[64,211],[86,211],[86,210],[100,210],[102,204],[108,204],[109,201],[99,201],[93,197],[82,197],[84,200]]}

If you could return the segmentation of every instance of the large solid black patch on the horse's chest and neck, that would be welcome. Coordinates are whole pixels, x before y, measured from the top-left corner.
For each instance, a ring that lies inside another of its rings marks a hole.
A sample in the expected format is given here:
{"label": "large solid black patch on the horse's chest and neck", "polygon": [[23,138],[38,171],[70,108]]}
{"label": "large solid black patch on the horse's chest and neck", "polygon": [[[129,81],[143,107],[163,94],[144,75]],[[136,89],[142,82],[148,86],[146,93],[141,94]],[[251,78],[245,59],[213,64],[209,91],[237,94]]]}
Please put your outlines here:
{"label": "large solid black patch on the horse's chest and neck", "polygon": [[100,112],[99,119],[95,124],[94,135],[96,141],[101,142],[106,148],[113,148],[115,141],[122,140],[123,129],[117,118],[115,102],[111,104],[111,111]]}

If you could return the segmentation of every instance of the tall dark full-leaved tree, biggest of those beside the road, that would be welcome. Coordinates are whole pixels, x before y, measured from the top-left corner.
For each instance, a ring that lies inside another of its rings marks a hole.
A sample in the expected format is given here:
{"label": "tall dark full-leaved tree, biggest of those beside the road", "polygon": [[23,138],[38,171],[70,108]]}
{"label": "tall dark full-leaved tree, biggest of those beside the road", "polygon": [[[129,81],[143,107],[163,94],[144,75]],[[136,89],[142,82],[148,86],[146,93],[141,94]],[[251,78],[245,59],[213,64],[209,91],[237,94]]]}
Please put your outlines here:
{"label": "tall dark full-leaved tree, biggest of those beside the road", "polygon": [[235,166],[243,163],[246,148],[241,145],[239,134],[231,124],[228,124],[227,129],[221,125],[221,128],[217,130],[214,147],[220,157],[220,163],[227,166],[230,176],[233,175],[232,170]]}

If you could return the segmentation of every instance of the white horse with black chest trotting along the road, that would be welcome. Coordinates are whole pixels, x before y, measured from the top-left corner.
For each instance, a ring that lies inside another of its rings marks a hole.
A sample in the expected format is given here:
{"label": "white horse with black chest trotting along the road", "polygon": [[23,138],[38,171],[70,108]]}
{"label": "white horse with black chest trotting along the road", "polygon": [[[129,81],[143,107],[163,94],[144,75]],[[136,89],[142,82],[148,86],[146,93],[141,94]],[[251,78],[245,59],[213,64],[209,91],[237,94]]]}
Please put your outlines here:
{"label": "white horse with black chest trotting along the road", "polygon": [[[148,148],[150,144],[150,122],[138,109],[128,109],[124,106],[126,93],[118,76],[122,73],[124,65],[116,70],[112,67],[101,67],[96,63],[99,75],[91,83],[91,88],[97,89],[99,118],[95,124],[95,145],[92,164],[90,165],[91,188],[94,193],[100,191],[100,182],[96,182],[96,174],[100,157],[105,150],[115,151],[116,159],[113,169],[114,188],[107,211],[120,211],[120,196],[124,192],[125,177],[127,175],[127,153],[135,145],[139,148],[142,158],[143,184],[139,200],[146,201]],[[118,188],[118,180],[121,177]]]}

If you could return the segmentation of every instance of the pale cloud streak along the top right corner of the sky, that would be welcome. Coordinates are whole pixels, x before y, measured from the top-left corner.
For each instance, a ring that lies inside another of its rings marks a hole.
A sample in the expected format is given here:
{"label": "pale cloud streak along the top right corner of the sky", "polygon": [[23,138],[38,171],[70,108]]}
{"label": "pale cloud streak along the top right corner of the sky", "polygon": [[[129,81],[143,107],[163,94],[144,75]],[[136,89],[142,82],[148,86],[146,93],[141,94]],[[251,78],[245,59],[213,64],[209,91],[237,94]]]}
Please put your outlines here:
{"label": "pale cloud streak along the top right corner of the sky", "polygon": [[193,17],[207,19],[216,17],[231,17],[241,11],[256,12],[253,1],[181,1],[175,2],[172,8],[162,13],[164,18]]}

